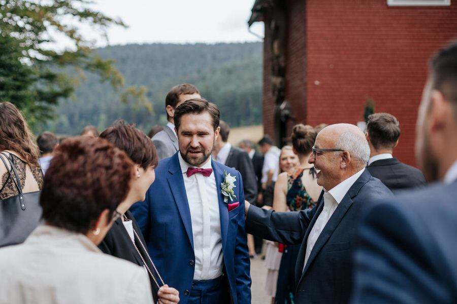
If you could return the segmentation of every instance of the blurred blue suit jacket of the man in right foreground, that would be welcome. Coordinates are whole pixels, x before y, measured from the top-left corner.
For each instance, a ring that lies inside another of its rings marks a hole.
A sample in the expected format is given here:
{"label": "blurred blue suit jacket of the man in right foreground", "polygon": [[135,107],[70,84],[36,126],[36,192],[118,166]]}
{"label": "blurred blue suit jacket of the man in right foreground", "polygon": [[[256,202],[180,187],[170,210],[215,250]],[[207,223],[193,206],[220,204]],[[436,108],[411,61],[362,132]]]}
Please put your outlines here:
{"label": "blurred blue suit jacket of the man in right foreground", "polygon": [[353,303],[457,303],[457,182],[405,192],[361,225]]}

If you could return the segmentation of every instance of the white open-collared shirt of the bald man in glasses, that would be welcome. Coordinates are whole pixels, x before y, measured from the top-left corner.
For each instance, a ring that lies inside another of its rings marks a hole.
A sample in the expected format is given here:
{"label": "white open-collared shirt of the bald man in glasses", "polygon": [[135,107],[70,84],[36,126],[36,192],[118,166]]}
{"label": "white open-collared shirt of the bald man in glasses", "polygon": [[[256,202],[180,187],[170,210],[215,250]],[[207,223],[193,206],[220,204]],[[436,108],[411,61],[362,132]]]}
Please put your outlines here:
{"label": "white open-collared shirt of the bald man in glasses", "polygon": [[329,221],[330,217],[335,212],[336,208],[339,206],[343,200],[346,193],[349,191],[349,188],[354,184],[354,182],[359,178],[362,173],[364,173],[365,168],[358,171],[351,177],[346,178],[336,186],[334,186],[329,191],[324,189],[323,200],[324,206],[322,212],[319,214],[316,222],[311,228],[309,233],[308,240],[306,243],[306,253],[305,253],[305,263],[303,264],[303,270],[305,269],[306,263],[308,261],[309,255],[313,250],[314,244],[316,244],[317,239],[320,236],[320,233],[324,229],[325,225]]}

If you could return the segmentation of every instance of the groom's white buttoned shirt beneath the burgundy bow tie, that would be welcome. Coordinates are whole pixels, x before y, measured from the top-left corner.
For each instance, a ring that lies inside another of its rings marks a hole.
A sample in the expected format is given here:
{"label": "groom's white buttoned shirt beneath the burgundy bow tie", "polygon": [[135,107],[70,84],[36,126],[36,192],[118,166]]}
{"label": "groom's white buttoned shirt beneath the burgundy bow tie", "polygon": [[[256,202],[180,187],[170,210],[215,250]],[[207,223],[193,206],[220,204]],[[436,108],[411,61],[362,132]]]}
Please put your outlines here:
{"label": "groom's white buttoned shirt beneath the burgundy bow tie", "polygon": [[[192,223],[193,251],[195,254],[194,280],[211,280],[222,275],[223,255],[220,233],[219,201],[214,172],[206,177],[195,173],[187,177],[186,163],[178,154]],[[210,169],[211,159],[201,166]]]}

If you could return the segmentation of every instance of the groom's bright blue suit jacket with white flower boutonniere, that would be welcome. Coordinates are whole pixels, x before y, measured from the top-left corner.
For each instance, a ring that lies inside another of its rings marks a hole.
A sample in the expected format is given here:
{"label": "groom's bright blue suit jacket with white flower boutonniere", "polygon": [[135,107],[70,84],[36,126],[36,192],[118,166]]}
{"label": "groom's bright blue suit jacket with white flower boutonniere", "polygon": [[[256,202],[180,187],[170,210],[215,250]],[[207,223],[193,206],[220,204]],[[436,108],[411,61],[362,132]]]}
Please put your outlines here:
{"label": "groom's bright blue suit jacket with white flower boutonniere", "polygon": [[[155,182],[146,193],[145,201],[134,204],[130,211],[143,232],[159,274],[166,284],[179,291],[180,303],[185,304],[192,288],[195,255],[190,209],[178,153],[159,162],[155,169]],[[238,171],[211,162],[219,194],[215,203],[219,204],[224,272],[233,302],[250,303],[250,261],[244,230],[243,182]],[[239,206],[230,212],[223,202],[219,187],[224,179],[224,170],[237,177],[234,192]]]}

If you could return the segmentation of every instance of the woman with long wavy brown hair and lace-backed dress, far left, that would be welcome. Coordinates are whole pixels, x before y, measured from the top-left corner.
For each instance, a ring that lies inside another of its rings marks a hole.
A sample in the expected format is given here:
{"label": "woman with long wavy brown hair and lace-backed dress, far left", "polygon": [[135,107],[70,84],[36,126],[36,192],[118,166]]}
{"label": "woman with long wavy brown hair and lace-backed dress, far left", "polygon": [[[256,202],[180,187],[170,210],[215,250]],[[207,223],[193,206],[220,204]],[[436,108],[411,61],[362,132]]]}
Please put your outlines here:
{"label": "woman with long wavy brown hair and lace-backed dress, far left", "polygon": [[39,149],[22,114],[0,102],[0,247],[25,240],[41,216]]}

